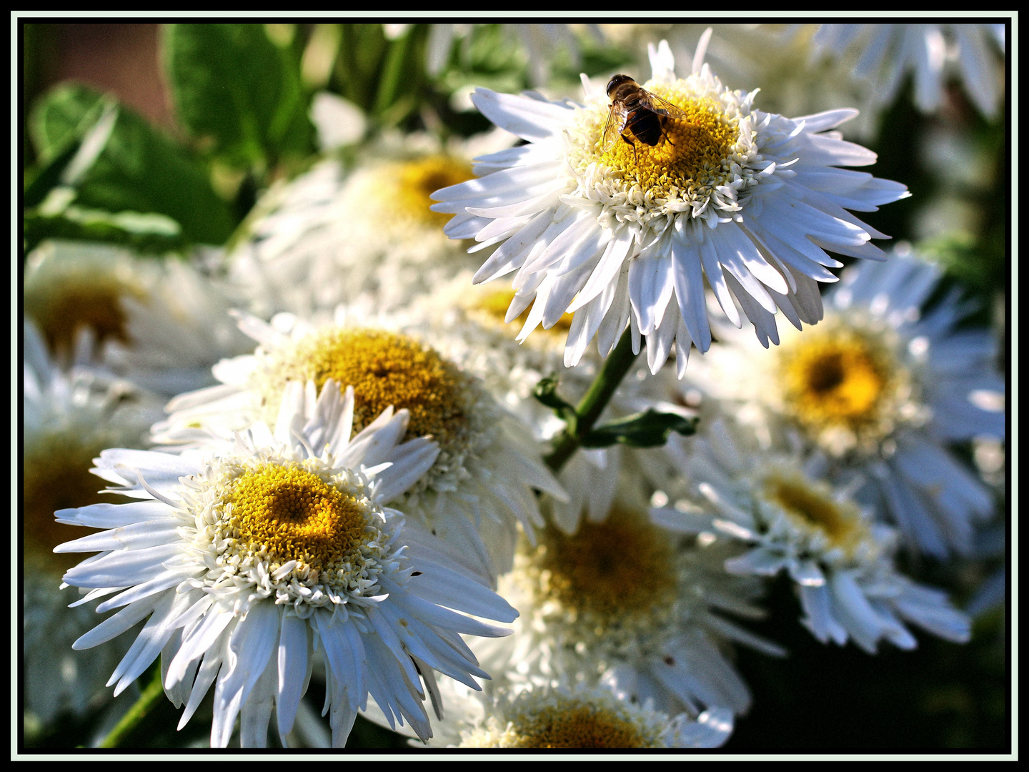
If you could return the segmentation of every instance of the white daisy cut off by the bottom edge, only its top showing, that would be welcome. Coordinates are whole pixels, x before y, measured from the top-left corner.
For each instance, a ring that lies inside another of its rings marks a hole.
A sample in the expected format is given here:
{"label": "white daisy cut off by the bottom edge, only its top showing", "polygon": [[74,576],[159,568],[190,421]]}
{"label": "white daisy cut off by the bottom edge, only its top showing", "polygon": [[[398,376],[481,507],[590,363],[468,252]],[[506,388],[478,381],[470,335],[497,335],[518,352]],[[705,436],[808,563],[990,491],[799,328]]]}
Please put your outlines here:
{"label": "white daisy cut off by the bottom edge, only its top showing", "polygon": [[[714,748],[733,713],[713,708],[696,721],[619,700],[607,689],[547,686],[472,692],[441,683],[449,714],[430,746],[462,748]],[[452,696],[453,694],[453,696]]]}

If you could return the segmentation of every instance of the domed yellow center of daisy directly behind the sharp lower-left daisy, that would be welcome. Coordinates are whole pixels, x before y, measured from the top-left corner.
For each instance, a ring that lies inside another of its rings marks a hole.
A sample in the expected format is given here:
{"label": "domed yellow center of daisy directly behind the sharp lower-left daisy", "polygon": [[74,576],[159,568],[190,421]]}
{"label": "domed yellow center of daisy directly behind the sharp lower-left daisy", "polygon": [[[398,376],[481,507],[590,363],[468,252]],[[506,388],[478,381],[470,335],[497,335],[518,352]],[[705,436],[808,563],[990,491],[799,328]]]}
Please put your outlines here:
{"label": "domed yellow center of daisy directly behind the sharp lower-left daisy", "polygon": [[[286,381],[328,379],[354,387],[354,433],[386,408],[411,413],[404,441],[431,434],[440,446],[466,428],[465,378],[436,351],[413,338],[378,329],[332,327],[303,339],[272,367],[265,391],[280,397]],[[279,399],[267,402],[277,409]]]}

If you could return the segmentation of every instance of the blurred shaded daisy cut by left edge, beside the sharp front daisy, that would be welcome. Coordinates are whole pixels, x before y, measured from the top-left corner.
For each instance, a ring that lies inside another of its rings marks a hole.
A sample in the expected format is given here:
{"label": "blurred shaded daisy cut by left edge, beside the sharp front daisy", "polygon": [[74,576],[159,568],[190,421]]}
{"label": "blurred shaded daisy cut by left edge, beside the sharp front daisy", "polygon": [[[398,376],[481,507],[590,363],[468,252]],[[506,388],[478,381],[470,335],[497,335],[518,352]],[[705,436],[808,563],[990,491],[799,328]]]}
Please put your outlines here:
{"label": "blurred shaded daisy cut by left edge, beside the sharp front daisy", "polygon": [[93,459],[112,445],[142,447],[161,405],[126,381],[63,373],[31,322],[23,341],[22,694],[26,708],[46,725],[64,710],[96,709],[108,697],[106,673],[128,648],[72,651],[72,641],[96,624],[96,604],[69,607],[74,594],[59,589],[77,561],[55,557],[54,548],[76,533],[55,522],[54,513],[105,500],[90,473]]}

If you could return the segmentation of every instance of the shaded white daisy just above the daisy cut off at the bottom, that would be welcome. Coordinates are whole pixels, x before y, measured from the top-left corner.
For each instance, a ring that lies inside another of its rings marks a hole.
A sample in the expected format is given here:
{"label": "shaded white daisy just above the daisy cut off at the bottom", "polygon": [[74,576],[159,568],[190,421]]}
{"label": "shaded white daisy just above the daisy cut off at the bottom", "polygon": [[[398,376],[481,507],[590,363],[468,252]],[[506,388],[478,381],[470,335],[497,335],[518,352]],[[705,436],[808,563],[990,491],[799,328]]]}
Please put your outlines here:
{"label": "shaded white daisy just above the daisy cut off at the bottom", "polygon": [[520,551],[499,592],[521,617],[503,643],[476,645],[483,666],[498,687],[604,683],[670,714],[744,712],[750,694],[726,646],[781,650],[717,611],[764,616],[751,604],[761,584],[725,573],[724,542],[680,542],[624,495],[603,522],[574,536],[548,528]]}

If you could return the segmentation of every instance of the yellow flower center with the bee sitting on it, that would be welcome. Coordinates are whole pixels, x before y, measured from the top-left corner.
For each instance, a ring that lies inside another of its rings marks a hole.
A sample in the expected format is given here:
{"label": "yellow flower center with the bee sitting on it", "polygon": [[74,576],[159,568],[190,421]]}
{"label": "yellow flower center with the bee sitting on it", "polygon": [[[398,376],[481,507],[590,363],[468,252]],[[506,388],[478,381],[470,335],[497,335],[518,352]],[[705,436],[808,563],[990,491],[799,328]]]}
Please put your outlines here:
{"label": "yellow flower center with the bee sitting on it", "polygon": [[[738,128],[726,119],[720,104],[689,96],[682,82],[648,81],[644,87],[681,109],[686,117],[673,118],[641,108],[626,121],[630,126],[623,136],[632,144],[619,138],[606,152],[601,150],[602,122],[597,152],[602,164],[622,170],[625,180],[636,182],[657,198],[698,200],[722,184],[730,173]],[[640,122],[635,122],[637,119]],[[606,113],[603,120],[607,120]],[[648,126],[663,129],[653,146],[634,134],[634,129]]]}

